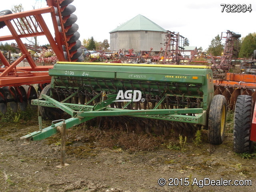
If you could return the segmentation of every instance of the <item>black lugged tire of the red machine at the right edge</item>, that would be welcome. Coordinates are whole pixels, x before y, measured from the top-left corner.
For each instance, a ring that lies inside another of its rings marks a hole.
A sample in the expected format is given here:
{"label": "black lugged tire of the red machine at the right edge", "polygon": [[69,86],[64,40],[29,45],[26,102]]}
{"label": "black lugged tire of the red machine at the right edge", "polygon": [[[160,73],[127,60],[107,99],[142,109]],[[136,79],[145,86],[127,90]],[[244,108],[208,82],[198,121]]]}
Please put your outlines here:
{"label": "black lugged tire of the red machine at the right edge", "polygon": [[234,151],[236,153],[248,153],[252,151],[252,141],[250,140],[252,113],[252,96],[239,95],[236,100],[233,131]]}

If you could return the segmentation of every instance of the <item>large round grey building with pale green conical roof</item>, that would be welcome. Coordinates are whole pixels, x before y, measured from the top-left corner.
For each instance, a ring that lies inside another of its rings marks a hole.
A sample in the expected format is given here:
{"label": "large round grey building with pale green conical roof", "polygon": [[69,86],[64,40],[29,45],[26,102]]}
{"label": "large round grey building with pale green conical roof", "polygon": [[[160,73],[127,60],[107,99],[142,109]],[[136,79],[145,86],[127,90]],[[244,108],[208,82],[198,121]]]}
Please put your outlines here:
{"label": "large round grey building with pale green conical roof", "polygon": [[139,14],[110,31],[110,50],[149,51],[153,48],[153,51],[159,52],[165,32],[164,28]]}

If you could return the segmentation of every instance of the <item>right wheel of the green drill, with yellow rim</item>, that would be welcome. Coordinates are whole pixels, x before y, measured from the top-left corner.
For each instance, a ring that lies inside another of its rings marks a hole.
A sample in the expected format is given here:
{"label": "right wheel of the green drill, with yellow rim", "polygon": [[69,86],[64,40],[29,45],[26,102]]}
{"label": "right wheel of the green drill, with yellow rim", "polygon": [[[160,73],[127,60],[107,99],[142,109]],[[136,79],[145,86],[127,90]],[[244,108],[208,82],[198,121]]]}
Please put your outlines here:
{"label": "right wheel of the green drill, with yellow rim", "polygon": [[226,98],[215,95],[212,99],[208,118],[208,139],[210,144],[222,144],[226,124]]}

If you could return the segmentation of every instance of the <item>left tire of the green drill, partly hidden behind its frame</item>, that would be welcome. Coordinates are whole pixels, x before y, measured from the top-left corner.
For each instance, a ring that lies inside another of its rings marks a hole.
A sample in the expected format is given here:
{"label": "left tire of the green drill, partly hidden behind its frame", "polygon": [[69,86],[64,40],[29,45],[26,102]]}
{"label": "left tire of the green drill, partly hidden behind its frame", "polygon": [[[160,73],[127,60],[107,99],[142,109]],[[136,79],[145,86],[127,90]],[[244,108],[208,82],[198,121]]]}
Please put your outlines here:
{"label": "left tire of the green drill, partly hidden behind its frame", "polygon": [[[42,90],[39,98],[42,98],[42,94],[46,94],[47,96],[50,96],[50,93],[51,93],[51,84],[48,84]],[[42,107],[42,106],[38,106],[38,108],[43,119],[58,120],[58,119],[61,119],[64,114],[64,112],[58,108]]]}

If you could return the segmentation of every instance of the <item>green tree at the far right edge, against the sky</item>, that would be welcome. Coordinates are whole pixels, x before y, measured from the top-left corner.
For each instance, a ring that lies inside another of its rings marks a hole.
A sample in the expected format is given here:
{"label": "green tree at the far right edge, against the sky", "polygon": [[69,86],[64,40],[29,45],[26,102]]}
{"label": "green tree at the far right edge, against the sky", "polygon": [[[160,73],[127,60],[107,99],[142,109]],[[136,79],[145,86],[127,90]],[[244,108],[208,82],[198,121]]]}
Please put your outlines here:
{"label": "green tree at the far right edge, against the sky", "polygon": [[239,57],[249,58],[254,50],[256,50],[256,33],[249,33],[242,41]]}

